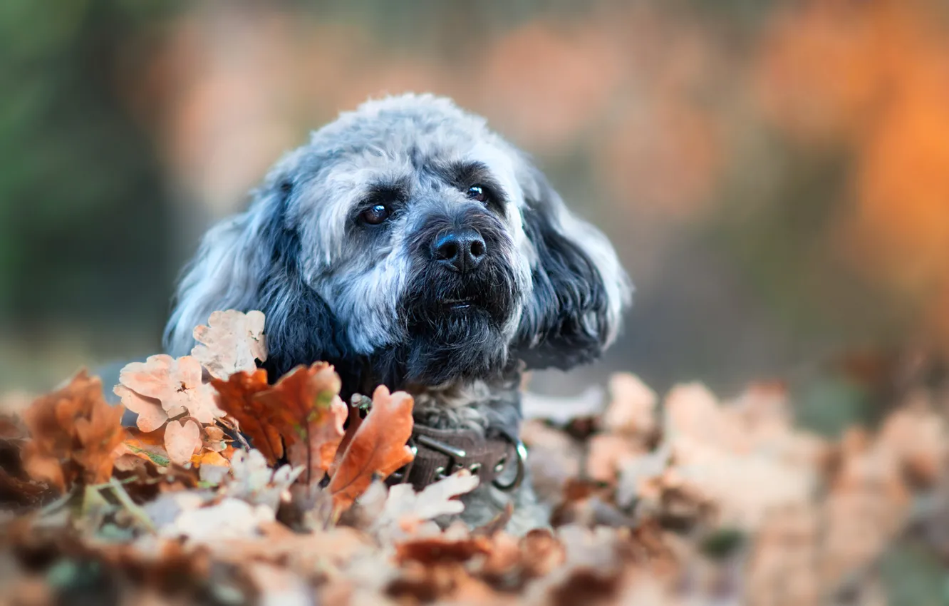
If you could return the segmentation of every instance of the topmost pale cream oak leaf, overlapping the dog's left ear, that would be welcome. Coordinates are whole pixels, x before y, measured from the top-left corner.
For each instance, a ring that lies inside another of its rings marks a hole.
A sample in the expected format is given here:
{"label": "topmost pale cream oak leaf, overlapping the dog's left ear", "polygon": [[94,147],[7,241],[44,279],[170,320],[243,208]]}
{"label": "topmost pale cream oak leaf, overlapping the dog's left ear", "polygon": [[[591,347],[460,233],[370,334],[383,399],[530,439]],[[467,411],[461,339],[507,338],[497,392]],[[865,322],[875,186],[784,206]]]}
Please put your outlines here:
{"label": "topmost pale cream oak leaf, overlapping the dog's left ear", "polygon": [[208,326],[195,327],[198,344],[191,354],[211,376],[227,380],[234,372],[252,372],[257,368],[254,360],[267,360],[263,332],[263,312],[214,312]]}

